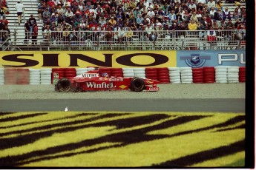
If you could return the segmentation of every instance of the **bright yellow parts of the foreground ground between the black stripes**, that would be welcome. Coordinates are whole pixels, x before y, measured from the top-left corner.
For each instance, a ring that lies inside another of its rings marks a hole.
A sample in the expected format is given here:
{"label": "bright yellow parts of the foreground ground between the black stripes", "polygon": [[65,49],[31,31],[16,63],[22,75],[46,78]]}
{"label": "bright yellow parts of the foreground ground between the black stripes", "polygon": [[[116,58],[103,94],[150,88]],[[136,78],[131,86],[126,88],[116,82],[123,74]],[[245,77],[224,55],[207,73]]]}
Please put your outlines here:
{"label": "bright yellow parts of the foreground ground between the black stripes", "polygon": [[[10,126],[10,125],[19,125],[22,123],[29,123],[33,121],[42,121],[42,120],[53,120],[56,118],[65,118],[70,115],[77,115],[81,112],[49,112],[47,115],[38,116],[36,118],[25,118],[22,120],[16,120],[11,122],[6,122],[1,124],[1,126]],[[91,112],[90,112],[91,113]],[[97,115],[89,115],[85,118],[92,118],[99,115],[103,115],[106,113],[112,112],[101,112]],[[120,113],[120,112],[116,112]],[[122,112],[121,112],[122,113]],[[71,126],[80,126],[90,123],[96,122],[104,122],[107,120],[116,120],[119,118],[132,118],[142,115],[149,114],[157,114],[164,113],[168,115],[175,115],[177,117],[184,115],[211,115],[208,118],[202,118],[200,120],[194,120],[188,123],[183,123],[179,126],[173,126],[167,129],[156,130],[153,132],[149,132],[148,135],[175,135],[178,132],[186,132],[189,130],[200,129],[203,127],[213,126],[217,123],[223,123],[230,118],[234,118],[237,115],[244,115],[244,113],[240,114],[232,114],[232,113],[196,113],[196,112],[131,112],[131,115],[122,115],[117,116],[115,118],[102,118],[100,120],[96,120],[89,123],[81,123],[70,125]],[[27,112],[18,113],[19,115],[33,114]],[[6,116],[4,116],[6,117]],[[1,118],[4,118],[1,117]],[[177,118],[175,117],[175,118]],[[1,132],[11,132],[13,130],[18,129],[31,129],[34,127],[45,126],[47,124],[54,123],[65,123],[73,120],[79,120],[84,117],[79,118],[69,118],[68,120],[53,120],[50,122],[42,122],[42,123],[34,123],[32,125],[27,126],[18,126],[10,129],[0,129]],[[167,118],[165,120],[174,119],[174,117]],[[104,127],[88,127],[84,129],[78,129],[72,132],[65,133],[54,133],[52,136],[48,136],[37,140],[34,143],[29,143],[24,146],[12,148],[12,149],[4,149],[0,151],[0,157],[5,157],[7,155],[19,155],[25,154],[33,151],[44,150],[53,146],[62,146],[67,143],[77,143],[82,140],[94,139],[96,137],[103,137],[105,135],[110,135],[118,132],[130,131],[132,129],[141,129],[147,126],[154,126],[159,123],[163,123],[165,120],[158,120],[150,124],[145,124],[141,126],[133,126],[131,128],[126,129],[115,129],[115,126],[104,126]],[[244,123],[244,122],[243,122]],[[237,123],[236,125],[229,126],[239,126],[241,123]],[[218,128],[220,129],[220,128]],[[216,132],[217,129],[211,129],[203,132],[195,132],[188,135],[180,135],[176,137],[168,137],[160,140],[152,140],[148,142],[135,143],[124,147],[111,148],[100,150],[98,152],[93,153],[82,153],[81,152],[88,151],[89,149],[96,149],[102,146],[113,146],[120,143],[96,143],[90,147],[82,147],[79,149],[75,149],[72,151],[59,152],[56,154],[51,154],[50,156],[62,155],[67,153],[77,153],[75,156],[71,157],[62,157],[58,159],[52,160],[43,160],[36,163],[25,164],[24,166],[104,166],[104,167],[113,167],[113,166],[151,166],[152,164],[164,163],[168,160],[174,160],[179,157],[183,157],[190,154],[195,154],[197,152],[203,152],[206,150],[214,149],[220,146],[228,146],[230,143],[234,143],[239,140],[243,140],[245,138],[245,129],[234,129],[231,131],[223,131]],[[24,135],[24,134],[22,134]],[[10,137],[10,136],[8,136]],[[42,156],[44,157],[44,156]],[[42,157],[33,157],[30,160]],[[221,161],[223,157],[214,160],[208,160],[203,163],[198,163],[193,166],[223,166],[223,161]],[[232,154],[224,157],[225,163],[233,163],[236,160],[240,160],[244,158],[244,154]]]}

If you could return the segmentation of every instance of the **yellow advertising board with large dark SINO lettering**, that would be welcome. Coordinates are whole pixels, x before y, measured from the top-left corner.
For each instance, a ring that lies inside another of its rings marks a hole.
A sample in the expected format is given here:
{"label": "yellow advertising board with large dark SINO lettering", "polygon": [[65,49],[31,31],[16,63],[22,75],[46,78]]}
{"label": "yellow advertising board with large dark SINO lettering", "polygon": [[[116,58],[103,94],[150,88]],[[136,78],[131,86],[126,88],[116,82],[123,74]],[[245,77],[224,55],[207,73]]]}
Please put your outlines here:
{"label": "yellow advertising board with large dark SINO lettering", "polygon": [[177,51],[1,52],[0,67],[177,67]]}

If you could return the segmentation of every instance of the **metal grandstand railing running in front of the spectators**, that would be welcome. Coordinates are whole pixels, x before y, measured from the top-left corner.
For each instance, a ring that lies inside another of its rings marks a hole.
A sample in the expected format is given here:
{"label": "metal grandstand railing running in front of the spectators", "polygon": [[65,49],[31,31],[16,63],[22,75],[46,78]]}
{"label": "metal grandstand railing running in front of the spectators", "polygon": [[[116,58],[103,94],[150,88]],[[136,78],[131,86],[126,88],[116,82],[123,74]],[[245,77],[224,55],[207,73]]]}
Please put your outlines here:
{"label": "metal grandstand railing running in front of the spectators", "polygon": [[[37,44],[10,41],[11,50],[234,50],[246,30],[51,31]],[[31,42],[31,39],[27,39]]]}

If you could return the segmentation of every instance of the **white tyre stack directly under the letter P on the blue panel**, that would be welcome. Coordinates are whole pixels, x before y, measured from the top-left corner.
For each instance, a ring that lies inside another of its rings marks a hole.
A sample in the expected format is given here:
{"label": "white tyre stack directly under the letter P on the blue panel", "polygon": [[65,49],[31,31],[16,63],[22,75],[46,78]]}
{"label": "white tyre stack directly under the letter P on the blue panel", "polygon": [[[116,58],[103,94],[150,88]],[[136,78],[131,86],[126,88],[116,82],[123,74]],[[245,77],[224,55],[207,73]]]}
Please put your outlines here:
{"label": "white tyre stack directly under the letter P on the blue panel", "polygon": [[217,66],[215,68],[215,82],[217,84],[228,83],[228,67],[227,66]]}

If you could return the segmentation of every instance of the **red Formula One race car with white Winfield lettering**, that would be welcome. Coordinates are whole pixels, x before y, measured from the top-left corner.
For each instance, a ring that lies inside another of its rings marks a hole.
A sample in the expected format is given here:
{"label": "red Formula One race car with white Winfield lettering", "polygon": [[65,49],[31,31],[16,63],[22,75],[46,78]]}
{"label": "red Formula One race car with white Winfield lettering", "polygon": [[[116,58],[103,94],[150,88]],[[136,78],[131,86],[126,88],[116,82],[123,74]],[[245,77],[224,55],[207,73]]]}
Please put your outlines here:
{"label": "red Formula One race car with white Winfield lettering", "polygon": [[[54,74],[54,72],[53,72]],[[57,73],[58,74],[58,73]],[[58,75],[57,75],[58,76]],[[141,92],[142,90],[159,91],[159,81],[148,78],[123,78],[108,77],[108,74],[99,75],[98,70],[91,70],[73,78],[62,78],[55,84],[56,92],[87,92],[100,90],[131,90]]]}

